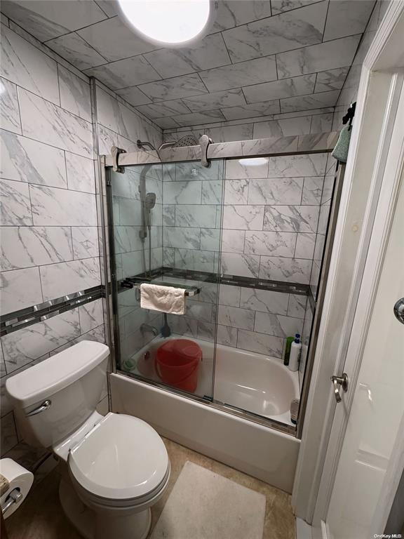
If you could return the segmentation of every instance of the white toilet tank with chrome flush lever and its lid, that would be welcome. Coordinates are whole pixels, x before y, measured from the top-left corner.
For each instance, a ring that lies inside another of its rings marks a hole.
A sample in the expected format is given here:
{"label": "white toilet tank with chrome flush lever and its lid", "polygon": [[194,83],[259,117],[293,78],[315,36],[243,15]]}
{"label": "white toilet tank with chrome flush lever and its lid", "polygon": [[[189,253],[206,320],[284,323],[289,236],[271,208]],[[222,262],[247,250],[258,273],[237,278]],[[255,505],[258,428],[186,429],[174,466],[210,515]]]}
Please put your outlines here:
{"label": "white toilet tank with chrome flush lever and its lid", "polygon": [[51,448],[90,417],[107,384],[108,356],[106,345],[83,340],[8,378],[6,391],[29,444]]}

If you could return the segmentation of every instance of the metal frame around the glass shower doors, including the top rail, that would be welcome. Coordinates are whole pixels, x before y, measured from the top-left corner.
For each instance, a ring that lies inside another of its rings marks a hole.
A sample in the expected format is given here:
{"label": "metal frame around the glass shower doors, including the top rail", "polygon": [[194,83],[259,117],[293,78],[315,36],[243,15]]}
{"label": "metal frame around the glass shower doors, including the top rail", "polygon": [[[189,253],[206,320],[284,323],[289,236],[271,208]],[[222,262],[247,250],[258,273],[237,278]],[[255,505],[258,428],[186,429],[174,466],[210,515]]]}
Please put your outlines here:
{"label": "metal frame around the glass shower doors, including the top rail", "polygon": [[[288,156],[288,155],[297,155],[297,154],[318,154],[318,153],[330,153],[332,152],[332,149],[335,146],[335,142],[337,140],[338,132],[331,132],[331,133],[318,133],[316,135],[297,135],[293,137],[283,137],[278,138],[276,140],[274,139],[257,139],[257,140],[243,140],[238,142],[221,142],[219,144],[211,144],[210,148],[208,148],[208,160],[214,160],[214,159],[223,159],[224,161],[227,159],[245,159],[245,158],[253,158],[253,157],[278,157],[278,156]],[[271,151],[271,149],[273,151]],[[200,160],[200,148],[199,147],[180,147],[177,149],[167,149],[163,150],[161,152],[161,158],[166,157],[167,160],[161,161],[157,160],[159,159],[157,157],[154,158],[153,155],[147,154],[145,152],[142,153],[142,157],[146,157],[146,159],[139,162],[140,153],[139,152],[128,152],[123,153],[119,155],[119,166],[137,166],[137,165],[144,165],[144,164],[167,164],[167,163],[175,163],[175,162],[184,162],[184,161],[199,161]],[[123,376],[128,376],[128,378],[133,378],[128,373],[125,373],[124,371],[121,371],[117,369],[116,363],[117,363],[117,357],[118,354],[117,348],[119,349],[119,333],[117,331],[117,327],[119,326],[117,321],[117,310],[116,310],[116,294],[114,292],[114,288],[116,286],[116,273],[115,268],[112,267],[114,264],[112,262],[113,254],[111,251],[111,247],[114,244],[113,241],[113,228],[112,228],[112,222],[110,220],[110,213],[112,209],[112,196],[111,196],[111,181],[109,173],[113,166],[113,159],[111,155],[107,156],[101,156],[99,159],[100,164],[100,185],[99,185],[99,193],[100,193],[100,221],[102,222],[102,245],[103,253],[102,253],[102,266],[103,266],[103,275],[104,275],[104,283],[105,284],[105,290],[106,293],[106,307],[105,312],[107,315],[107,331],[106,335],[108,336],[108,344],[111,350],[111,358],[112,358],[112,372],[113,373],[119,373]],[[225,169],[224,169],[225,170]],[[192,401],[197,401],[200,404],[204,404],[206,406],[211,406],[213,408],[216,408],[217,410],[224,411],[226,413],[230,413],[231,415],[236,415],[239,418],[243,418],[245,420],[249,420],[252,422],[256,422],[259,425],[270,427],[274,430],[278,430],[280,432],[283,432],[285,434],[290,434],[292,437],[296,437],[297,439],[301,438],[301,432],[302,432],[302,425],[304,422],[304,411],[306,408],[306,401],[307,401],[307,394],[308,394],[308,388],[309,388],[309,378],[311,374],[311,367],[312,367],[312,361],[314,360],[314,351],[315,351],[315,345],[316,345],[316,338],[317,335],[314,335],[313,329],[316,330],[316,333],[318,333],[318,319],[321,316],[321,308],[323,303],[323,294],[321,293],[322,290],[325,289],[325,285],[327,283],[327,276],[328,276],[328,267],[330,262],[330,255],[331,255],[331,247],[332,247],[332,237],[335,231],[335,224],[336,224],[336,218],[331,218],[332,215],[337,214],[337,208],[339,206],[339,197],[340,197],[340,186],[342,185],[343,180],[343,174],[341,174],[341,171],[343,170],[343,167],[339,169],[339,174],[335,173],[335,189],[332,195],[332,204],[330,207],[330,215],[329,215],[329,225],[328,225],[328,231],[327,231],[327,241],[325,244],[324,252],[323,252],[323,259],[322,259],[322,265],[321,265],[321,272],[318,282],[318,293],[317,293],[317,300],[316,300],[316,310],[314,313],[314,321],[311,326],[311,333],[310,333],[310,349],[309,349],[309,355],[307,357],[307,364],[304,371],[304,380],[302,382],[302,389],[301,389],[301,405],[299,410],[299,423],[297,427],[292,425],[286,425],[285,423],[277,422],[276,420],[272,420],[270,418],[264,418],[262,415],[255,414],[253,412],[241,410],[240,408],[236,408],[234,406],[228,405],[228,404],[222,404],[220,402],[215,401],[214,394],[213,394],[213,400],[210,401],[208,399],[204,399],[203,397],[198,397],[197,395],[191,395],[186,392],[182,392],[181,390],[177,390],[174,387],[169,387],[163,383],[155,382],[154,380],[149,380],[147,378],[142,377],[141,375],[136,375],[135,379],[139,380],[140,382],[144,382],[148,385],[152,385],[154,387],[159,387],[160,389],[163,389],[167,392],[171,392],[177,395],[180,395],[181,397],[184,397],[186,399],[190,399]],[[326,173],[326,171],[325,171]],[[223,179],[224,181],[224,179]],[[339,185],[339,187],[336,187]],[[109,191],[107,190],[109,188]],[[222,200],[223,204],[223,200]],[[220,228],[222,230],[222,227]],[[330,245],[331,241],[331,245]],[[221,246],[221,244],[220,244]],[[112,247],[113,248],[113,247]],[[220,251],[221,253],[221,251]],[[114,279],[112,278],[114,277]],[[317,313],[319,313],[317,315]],[[317,323],[316,323],[317,321]],[[217,326],[217,323],[216,323]],[[311,342],[314,343],[314,346],[311,345]],[[215,364],[215,363],[214,363]],[[213,369],[213,378],[215,375],[215,368]]]}

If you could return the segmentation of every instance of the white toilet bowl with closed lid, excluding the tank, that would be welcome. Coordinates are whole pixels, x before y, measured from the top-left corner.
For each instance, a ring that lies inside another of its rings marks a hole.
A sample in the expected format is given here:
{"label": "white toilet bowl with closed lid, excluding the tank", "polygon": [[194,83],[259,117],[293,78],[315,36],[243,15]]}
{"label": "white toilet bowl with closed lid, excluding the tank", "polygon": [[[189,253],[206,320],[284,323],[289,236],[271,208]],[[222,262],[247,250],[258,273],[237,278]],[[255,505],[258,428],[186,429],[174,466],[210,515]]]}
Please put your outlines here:
{"label": "white toilet bowl with closed lid, excluding the tank", "polygon": [[[54,452],[64,460],[65,449],[62,443]],[[144,539],[151,524],[150,507],[168,485],[170,461],[166,446],[150,425],[131,415],[108,413],[69,448],[67,472],[60,500],[82,535]],[[72,503],[74,494],[86,506],[89,522],[81,522],[83,508]],[[70,501],[66,503],[67,495]]]}

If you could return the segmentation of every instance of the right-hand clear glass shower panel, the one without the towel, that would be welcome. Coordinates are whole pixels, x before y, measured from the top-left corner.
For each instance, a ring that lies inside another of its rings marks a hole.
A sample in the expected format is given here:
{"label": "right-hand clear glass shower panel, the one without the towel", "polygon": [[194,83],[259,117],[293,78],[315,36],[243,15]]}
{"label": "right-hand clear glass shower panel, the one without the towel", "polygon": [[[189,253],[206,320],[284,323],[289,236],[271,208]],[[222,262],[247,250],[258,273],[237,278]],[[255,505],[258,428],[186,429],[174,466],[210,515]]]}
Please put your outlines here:
{"label": "right-hand clear glass shower panel, the one without the towel", "polygon": [[[288,432],[332,204],[327,161],[323,153],[225,163],[214,399]],[[296,334],[301,353],[289,364],[286,347]]]}

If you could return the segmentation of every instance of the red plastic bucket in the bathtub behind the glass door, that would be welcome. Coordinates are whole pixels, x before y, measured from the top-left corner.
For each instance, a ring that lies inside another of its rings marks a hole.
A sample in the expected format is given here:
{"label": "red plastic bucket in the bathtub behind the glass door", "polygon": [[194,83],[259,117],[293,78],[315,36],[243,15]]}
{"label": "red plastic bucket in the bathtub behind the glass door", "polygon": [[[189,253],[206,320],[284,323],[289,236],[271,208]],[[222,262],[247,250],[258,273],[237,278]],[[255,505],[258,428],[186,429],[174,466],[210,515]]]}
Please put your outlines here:
{"label": "red plastic bucket in the bathtub behind the glass door", "polygon": [[168,385],[194,392],[198,385],[202,350],[189,339],[171,339],[156,353],[156,373]]}

